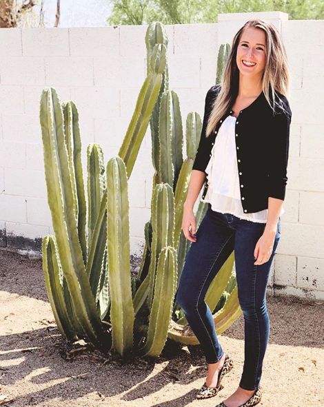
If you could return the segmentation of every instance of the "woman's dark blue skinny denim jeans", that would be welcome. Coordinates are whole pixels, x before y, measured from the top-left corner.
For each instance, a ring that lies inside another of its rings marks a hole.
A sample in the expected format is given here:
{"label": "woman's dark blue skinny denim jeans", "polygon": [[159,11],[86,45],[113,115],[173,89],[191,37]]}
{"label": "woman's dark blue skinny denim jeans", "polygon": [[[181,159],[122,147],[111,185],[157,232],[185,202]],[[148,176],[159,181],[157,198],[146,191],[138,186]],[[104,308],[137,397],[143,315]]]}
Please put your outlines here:
{"label": "woman's dark blue skinny denim jeans", "polygon": [[272,255],[267,262],[254,265],[254,249],[265,229],[265,222],[240,219],[211,209],[210,203],[196,231],[179,280],[176,302],[201,344],[207,363],[223,356],[205,294],[210,283],[234,250],[238,297],[244,317],[244,366],[239,386],[259,388],[263,358],[270,333],[266,289],[270,266],[281,236],[279,218]]}

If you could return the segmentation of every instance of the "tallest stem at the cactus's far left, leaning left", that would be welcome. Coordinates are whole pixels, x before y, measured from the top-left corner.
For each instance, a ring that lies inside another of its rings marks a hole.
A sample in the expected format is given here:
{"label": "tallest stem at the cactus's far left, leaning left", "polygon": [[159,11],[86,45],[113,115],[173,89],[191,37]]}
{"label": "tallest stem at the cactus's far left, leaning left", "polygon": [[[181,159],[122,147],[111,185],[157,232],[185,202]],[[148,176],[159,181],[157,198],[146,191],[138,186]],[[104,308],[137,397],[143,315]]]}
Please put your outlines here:
{"label": "tallest stem at the cactus's far left, leaning left", "polygon": [[81,249],[76,204],[73,194],[68,148],[65,143],[63,110],[55,90],[43,91],[40,109],[41,130],[48,189],[48,205],[63,273],[77,319],[85,335],[101,351],[111,347],[110,335],[105,331],[85,273]]}

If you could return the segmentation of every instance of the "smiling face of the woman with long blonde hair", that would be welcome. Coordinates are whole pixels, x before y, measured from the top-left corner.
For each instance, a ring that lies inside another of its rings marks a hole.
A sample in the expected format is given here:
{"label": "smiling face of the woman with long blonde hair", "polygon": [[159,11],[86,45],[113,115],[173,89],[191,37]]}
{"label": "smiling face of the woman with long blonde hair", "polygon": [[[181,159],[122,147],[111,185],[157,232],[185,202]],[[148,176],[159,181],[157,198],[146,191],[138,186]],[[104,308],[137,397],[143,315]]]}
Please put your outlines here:
{"label": "smiling face of the woman with long blonde hair", "polygon": [[[241,34],[236,51],[236,64],[240,76],[260,76],[265,69],[265,32],[260,28],[249,27]],[[254,63],[252,66],[244,65],[243,61]]]}

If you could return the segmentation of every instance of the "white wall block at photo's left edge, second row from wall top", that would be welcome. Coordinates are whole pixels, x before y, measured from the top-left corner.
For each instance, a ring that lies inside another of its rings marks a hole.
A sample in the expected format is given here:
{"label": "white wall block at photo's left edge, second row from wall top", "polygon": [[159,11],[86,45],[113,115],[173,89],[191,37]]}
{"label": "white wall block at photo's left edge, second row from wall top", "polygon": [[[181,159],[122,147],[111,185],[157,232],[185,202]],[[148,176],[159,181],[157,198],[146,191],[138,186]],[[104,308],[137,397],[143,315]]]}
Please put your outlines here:
{"label": "white wall block at photo's left edge, second row from wall top", "polygon": [[1,60],[1,84],[45,85],[43,58],[37,56],[8,56]]}

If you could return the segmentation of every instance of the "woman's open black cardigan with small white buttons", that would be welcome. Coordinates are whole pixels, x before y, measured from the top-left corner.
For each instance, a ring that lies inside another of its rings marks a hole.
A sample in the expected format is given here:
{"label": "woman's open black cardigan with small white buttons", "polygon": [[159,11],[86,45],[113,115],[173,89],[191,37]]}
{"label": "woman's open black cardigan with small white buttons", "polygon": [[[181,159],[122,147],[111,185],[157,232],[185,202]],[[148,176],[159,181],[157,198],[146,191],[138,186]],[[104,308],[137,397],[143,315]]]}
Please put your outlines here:
{"label": "woman's open black cardigan with small white buttons", "polygon": [[[205,137],[212,102],[220,90],[221,85],[213,85],[207,92],[203,128],[192,169],[205,172],[219,127],[225,118],[233,113],[230,108],[227,109],[216,124],[215,131]],[[261,92],[249,106],[239,112],[236,118],[236,160],[241,204],[245,213],[267,209],[269,196],[285,199],[292,112],[287,98],[279,92],[276,92],[275,103],[273,114],[272,107]],[[283,112],[280,105],[286,112]],[[202,198],[205,198],[207,187],[206,177]]]}

